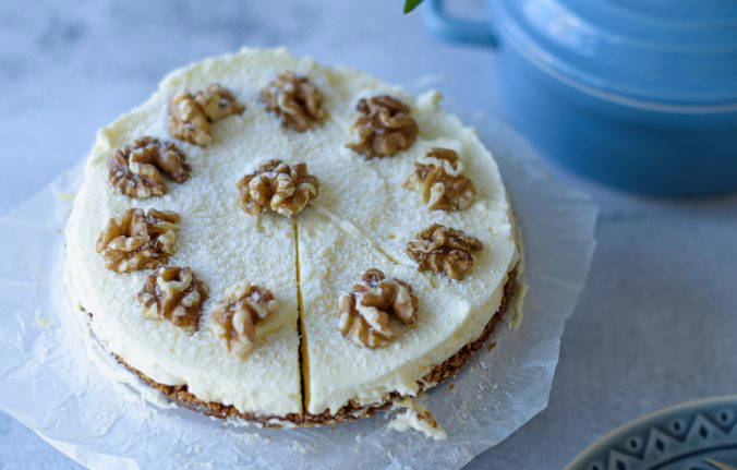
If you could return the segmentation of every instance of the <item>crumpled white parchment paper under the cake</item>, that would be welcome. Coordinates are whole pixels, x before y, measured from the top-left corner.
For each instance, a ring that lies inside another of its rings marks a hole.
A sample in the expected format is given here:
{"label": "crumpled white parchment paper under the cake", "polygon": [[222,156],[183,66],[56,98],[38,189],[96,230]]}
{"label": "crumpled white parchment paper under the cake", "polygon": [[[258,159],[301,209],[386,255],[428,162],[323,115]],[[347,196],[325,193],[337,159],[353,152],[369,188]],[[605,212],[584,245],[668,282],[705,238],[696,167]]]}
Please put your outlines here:
{"label": "crumpled white parchment paper under the cake", "polygon": [[92,468],[462,467],[546,407],[564,325],[593,254],[597,213],[588,196],[547,176],[504,124],[467,118],[509,190],[529,291],[519,328],[505,321],[492,338],[496,347],[482,348],[457,377],[423,397],[447,439],[398,433],[383,418],[309,430],[234,426],[158,408],[111,379],[92,361],[59,267],[81,166],[0,218],[0,408]]}

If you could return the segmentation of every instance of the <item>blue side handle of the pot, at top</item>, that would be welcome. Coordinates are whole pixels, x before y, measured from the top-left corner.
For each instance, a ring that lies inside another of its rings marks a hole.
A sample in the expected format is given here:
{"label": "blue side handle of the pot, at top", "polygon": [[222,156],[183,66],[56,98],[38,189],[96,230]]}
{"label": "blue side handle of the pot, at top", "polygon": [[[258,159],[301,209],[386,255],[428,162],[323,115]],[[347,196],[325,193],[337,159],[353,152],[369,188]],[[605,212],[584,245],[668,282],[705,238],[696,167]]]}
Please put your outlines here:
{"label": "blue side handle of the pot, at top", "polygon": [[444,0],[430,0],[424,9],[425,27],[433,36],[448,43],[496,47],[496,37],[485,20],[459,20],[446,14]]}

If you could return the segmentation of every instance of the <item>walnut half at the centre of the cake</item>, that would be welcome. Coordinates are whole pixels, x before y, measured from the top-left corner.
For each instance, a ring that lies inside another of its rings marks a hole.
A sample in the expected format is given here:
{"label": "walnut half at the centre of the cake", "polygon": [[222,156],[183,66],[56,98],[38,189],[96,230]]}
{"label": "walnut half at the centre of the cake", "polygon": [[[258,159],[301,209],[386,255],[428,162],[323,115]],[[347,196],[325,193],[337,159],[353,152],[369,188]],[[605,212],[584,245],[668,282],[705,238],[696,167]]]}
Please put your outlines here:
{"label": "walnut half at the centre of the cake", "polygon": [[247,214],[258,215],[270,208],[282,216],[293,217],[317,197],[319,181],[307,173],[307,166],[303,162],[289,166],[273,159],[243,177],[238,182],[238,190],[241,207]]}

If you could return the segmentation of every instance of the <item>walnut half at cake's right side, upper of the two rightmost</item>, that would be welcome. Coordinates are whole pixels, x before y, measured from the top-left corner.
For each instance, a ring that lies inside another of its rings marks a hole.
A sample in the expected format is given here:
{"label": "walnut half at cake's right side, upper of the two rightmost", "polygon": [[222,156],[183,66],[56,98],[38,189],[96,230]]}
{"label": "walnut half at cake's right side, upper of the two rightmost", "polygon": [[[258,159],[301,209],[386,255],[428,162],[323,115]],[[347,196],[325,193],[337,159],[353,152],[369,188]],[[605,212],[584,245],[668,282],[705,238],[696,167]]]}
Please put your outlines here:
{"label": "walnut half at cake's right side, upper of the two rightmost", "polygon": [[473,183],[461,174],[463,164],[450,148],[431,148],[414,164],[414,172],[404,188],[419,191],[430,209],[462,210],[471,205],[475,195]]}

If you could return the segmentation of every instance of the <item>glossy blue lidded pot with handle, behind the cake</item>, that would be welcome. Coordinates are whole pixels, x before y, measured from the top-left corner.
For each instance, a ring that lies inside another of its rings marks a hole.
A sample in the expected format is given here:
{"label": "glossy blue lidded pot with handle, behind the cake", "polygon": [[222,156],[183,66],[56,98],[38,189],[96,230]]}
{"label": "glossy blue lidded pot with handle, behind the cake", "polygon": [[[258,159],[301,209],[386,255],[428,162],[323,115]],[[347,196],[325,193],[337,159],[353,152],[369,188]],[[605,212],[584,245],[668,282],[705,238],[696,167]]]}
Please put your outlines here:
{"label": "glossy blue lidded pot with handle, behind the cake", "polygon": [[737,0],[488,0],[440,39],[495,51],[495,111],[569,170],[626,191],[737,190]]}

